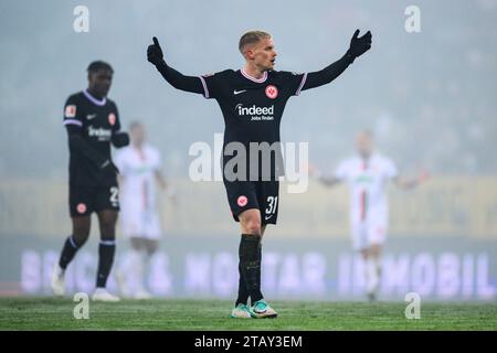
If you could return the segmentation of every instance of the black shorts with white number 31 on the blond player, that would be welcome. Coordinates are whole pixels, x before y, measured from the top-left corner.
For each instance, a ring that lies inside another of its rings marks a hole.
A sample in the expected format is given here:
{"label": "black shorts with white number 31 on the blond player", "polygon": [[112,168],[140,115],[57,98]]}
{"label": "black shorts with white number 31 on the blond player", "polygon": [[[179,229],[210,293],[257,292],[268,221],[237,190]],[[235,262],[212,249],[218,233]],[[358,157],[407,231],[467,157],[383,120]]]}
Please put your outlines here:
{"label": "black shorts with white number 31 on the blond player", "polygon": [[276,224],[278,217],[278,181],[226,181],[228,202],[236,222],[239,215],[248,208],[261,211],[262,224]]}

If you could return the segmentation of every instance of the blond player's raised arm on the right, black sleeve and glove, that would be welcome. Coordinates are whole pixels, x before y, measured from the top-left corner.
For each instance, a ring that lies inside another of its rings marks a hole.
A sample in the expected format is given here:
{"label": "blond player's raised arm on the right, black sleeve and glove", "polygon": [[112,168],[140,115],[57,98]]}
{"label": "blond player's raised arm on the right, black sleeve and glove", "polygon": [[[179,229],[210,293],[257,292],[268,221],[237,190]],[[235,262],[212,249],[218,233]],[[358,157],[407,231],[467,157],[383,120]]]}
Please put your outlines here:
{"label": "blond player's raised arm on the right, black sleeve and glove", "polygon": [[358,36],[359,30],[356,30],[352,39],[350,40],[350,47],[347,53],[332,63],[331,65],[307,74],[306,83],[302,90],[319,87],[329,84],[331,81],[340,76],[346,68],[353,63],[356,57],[361,56],[371,49],[371,32],[368,31],[364,35]]}

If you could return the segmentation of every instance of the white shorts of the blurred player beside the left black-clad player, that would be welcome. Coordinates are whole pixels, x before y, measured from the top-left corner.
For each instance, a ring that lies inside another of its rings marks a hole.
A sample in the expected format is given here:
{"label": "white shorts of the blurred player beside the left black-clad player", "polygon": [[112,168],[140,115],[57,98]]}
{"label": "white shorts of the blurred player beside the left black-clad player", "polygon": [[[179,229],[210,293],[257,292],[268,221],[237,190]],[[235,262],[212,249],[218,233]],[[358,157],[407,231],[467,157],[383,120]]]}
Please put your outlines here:
{"label": "white shorts of the blurred player beside the left black-clad player", "polygon": [[123,234],[127,237],[144,237],[158,239],[160,237],[160,222],[156,210],[121,207],[119,214]]}

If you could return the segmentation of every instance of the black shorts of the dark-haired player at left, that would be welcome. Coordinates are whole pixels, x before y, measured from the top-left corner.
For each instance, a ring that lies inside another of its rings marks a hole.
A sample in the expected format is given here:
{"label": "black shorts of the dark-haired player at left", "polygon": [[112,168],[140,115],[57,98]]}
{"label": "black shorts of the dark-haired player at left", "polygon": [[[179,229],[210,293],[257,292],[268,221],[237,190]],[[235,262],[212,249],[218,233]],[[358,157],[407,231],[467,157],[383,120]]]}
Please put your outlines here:
{"label": "black shorts of the dark-haired player at left", "polygon": [[71,216],[85,216],[102,210],[119,211],[119,188],[70,185]]}

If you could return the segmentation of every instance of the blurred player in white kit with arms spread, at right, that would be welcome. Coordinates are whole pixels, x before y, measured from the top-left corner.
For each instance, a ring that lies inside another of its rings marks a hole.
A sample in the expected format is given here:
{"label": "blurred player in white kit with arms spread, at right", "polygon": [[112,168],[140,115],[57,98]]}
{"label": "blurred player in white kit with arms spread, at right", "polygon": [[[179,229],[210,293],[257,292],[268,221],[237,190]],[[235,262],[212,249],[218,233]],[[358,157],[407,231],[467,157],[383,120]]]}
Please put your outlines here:
{"label": "blurred player in white kit with arms spread, at right", "polygon": [[387,184],[392,181],[401,189],[413,189],[429,174],[422,172],[413,180],[401,176],[392,160],[374,152],[372,135],[368,130],[358,133],[356,151],[357,154],[343,160],[332,175],[321,175],[314,168],[310,172],[326,185],[345,182],[349,186],[352,248],[364,259],[366,290],[369,300],[373,301],[380,285],[381,253],[389,225]]}

